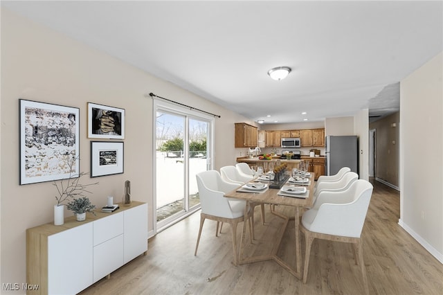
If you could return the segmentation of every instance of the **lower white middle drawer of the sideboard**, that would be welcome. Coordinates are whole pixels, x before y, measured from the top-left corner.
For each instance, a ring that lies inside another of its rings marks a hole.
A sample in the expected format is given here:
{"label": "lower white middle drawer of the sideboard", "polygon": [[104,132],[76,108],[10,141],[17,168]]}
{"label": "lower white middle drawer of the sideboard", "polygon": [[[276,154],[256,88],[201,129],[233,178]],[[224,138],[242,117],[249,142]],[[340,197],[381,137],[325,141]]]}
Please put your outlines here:
{"label": "lower white middle drawer of the sideboard", "polygon": [[123,265],[123,234],[93,249],[93,283]]}

